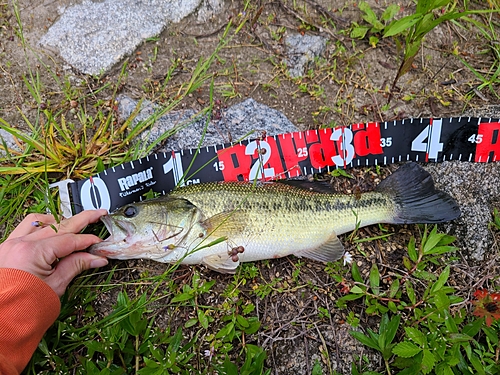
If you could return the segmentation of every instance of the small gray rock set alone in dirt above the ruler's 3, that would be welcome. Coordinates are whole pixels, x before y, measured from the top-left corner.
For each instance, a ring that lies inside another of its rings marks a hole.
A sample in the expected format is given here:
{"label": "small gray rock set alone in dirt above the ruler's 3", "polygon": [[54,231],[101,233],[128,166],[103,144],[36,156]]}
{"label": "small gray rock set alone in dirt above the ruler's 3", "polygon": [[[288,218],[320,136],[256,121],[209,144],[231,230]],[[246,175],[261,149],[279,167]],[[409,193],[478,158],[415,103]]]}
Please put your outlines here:
{"label": "small gray rock set alone in dirt above the ruler's 3", "polygon": [[308,65],[319,57],[326,47],[327,39],[315,35],[294,34],[286,38],[287,58],[285,59],[290,77],[302,77]]}

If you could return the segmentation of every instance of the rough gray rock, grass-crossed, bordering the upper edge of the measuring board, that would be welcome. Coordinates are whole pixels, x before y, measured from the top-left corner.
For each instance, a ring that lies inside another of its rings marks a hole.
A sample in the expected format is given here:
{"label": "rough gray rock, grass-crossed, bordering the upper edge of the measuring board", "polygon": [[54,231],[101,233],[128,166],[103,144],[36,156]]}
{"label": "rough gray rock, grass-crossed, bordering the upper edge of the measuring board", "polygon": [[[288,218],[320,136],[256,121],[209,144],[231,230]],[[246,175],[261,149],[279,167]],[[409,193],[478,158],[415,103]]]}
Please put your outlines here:
{"label": "rough gray rock, grass-crossed, bordering the upper edge of the measuring board", "polygon": [[[122,118],[128,118],[138,103],[126,96],[120,96],[117,100],[118,112]],[[159,110],[158,106],[144,101],[133,124],[154,116],[155,111]],[[152,129],[140,136],[140,141],[149,146],[165,132],[171,132],[172,135],[163,144],[163,151],[196,148],[200,144],[205,128],[206,133],[201,147],[256,138],[262,131],[267,135],[275,135],[298,130],[281,112],[253,99],[247,99],[222,110],[220,119],[208,123],[206,117],[197,116],[194,110],[172,111],[159,117]]]}

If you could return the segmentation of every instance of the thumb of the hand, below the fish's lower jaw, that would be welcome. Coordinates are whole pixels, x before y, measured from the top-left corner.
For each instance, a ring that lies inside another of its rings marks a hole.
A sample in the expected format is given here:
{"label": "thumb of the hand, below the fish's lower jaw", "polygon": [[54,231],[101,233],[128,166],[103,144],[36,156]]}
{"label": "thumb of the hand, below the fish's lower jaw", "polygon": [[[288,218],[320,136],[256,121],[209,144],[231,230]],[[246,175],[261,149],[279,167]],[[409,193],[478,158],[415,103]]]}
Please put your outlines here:
{"label": "thumb of the hand, below the fish's lower jaw", "polygon": [[108,260],[85,252],[77,252],[61,259],[54,272],[44,281],[61,297],[73,278],[90,268],[104,267]]}

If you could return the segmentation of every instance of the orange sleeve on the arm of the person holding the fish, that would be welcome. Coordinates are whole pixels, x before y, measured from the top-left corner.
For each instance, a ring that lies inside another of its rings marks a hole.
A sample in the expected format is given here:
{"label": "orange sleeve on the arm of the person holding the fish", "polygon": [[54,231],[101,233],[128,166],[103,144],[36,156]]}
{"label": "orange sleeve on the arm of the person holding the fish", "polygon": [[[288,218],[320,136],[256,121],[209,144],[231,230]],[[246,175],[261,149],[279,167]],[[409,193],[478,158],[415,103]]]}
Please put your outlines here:
{"label": "orange sleeve on the arm of the person holding the fish", "polygon": [[59,297],[40,278],[0,268],[0,375],[21,373],[60,309]]}

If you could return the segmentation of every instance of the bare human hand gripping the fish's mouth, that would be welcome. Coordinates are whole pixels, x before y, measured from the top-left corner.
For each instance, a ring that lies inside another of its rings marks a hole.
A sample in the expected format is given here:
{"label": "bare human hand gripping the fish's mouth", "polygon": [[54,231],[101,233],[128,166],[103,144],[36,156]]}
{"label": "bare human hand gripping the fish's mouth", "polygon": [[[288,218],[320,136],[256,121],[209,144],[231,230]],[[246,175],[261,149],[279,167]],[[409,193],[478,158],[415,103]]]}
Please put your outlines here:
{"label": "bare human hand gripping the fish's mouth", "polygon": [[0,244],[0,268],[38,276],[62,296],[76,275],[108,264],[106,258],[78,252],[102,241],[79,232],[103,215],[106,210],[83,211],[58,224],[52,215],[29,214]]}

